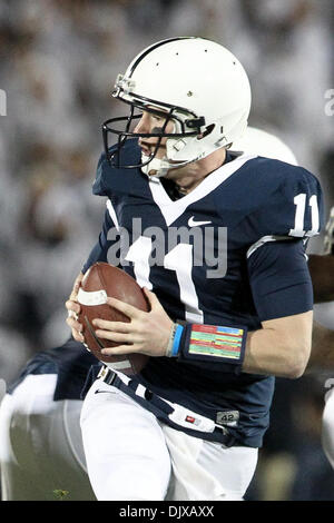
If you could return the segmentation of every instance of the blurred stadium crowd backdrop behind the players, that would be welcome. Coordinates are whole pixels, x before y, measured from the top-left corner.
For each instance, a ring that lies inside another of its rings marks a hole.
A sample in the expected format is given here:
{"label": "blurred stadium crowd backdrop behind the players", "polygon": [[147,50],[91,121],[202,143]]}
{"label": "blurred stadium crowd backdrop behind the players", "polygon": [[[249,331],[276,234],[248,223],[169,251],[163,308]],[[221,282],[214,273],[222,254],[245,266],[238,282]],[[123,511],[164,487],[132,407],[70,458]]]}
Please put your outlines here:
{"label": "blurred stadium crowd backdrop behind the players", "polygon": [[[90,190],[100,124],[122,110],[110,90],[132,57],[174,36],[229,48],[250,78],[250,124],[320,176],[328,209],[333,31],[331,0],[1,0],[0,378],[68,335],[63,302],[102,217]],[[334,500],[321,448],[327,377],[277,381],[249,500]]]}

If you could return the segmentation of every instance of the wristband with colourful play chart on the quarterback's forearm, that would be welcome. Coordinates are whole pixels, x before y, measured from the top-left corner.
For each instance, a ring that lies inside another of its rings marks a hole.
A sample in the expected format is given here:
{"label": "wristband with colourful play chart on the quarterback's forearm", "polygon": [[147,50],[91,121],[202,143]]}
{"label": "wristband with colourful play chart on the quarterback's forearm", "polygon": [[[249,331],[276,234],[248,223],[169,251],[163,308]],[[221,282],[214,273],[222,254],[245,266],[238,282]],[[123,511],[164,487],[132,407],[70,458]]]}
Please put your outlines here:
{"label": "wristband with colourful play chart on the quarterback's forearm", "polygon": [[179,356],[186,361],[222,364],[228,372],[240,372],[244,361],[247,327],[187,324],[181,336]]}

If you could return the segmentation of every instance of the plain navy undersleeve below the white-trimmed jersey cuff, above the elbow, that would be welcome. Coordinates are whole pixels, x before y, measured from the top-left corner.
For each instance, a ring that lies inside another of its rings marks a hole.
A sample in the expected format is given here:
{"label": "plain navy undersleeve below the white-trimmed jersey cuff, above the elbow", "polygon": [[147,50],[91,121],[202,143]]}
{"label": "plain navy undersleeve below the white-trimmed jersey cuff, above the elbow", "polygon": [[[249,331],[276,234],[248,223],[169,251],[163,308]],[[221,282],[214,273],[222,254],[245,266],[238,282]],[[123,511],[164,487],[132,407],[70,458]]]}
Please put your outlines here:
{"label": "plain navy undersleeve below the white-trimmed jersey cuff, above the elbow", "polygon": [[259,246],[248,256],[247,267],[261,322],[313,309],[313,287],[302,239]]}

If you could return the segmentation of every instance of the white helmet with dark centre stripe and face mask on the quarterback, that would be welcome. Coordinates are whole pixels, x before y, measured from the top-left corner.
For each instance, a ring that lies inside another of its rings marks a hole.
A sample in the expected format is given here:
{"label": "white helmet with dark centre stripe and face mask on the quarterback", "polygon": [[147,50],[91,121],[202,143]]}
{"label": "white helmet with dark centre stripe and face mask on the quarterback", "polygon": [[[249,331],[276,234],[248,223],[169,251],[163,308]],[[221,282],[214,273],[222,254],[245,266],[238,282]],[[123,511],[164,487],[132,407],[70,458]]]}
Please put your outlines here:
{"label": "white helmet with dark centre stripe and face mask on the quarterback", "polygon": [[[129,103],[131,110],[129,117],[112,118],[102,126],[108,160],[118,168],[155,169],[156,176],[229,147],[247,127],[252,98],[237,58],[219,43],[197,37],[163,40],[141,51],[125,75],[118,76],[112,96]],[[164,126],[151,134],[131,132],[131,122],[140,118],[135,108],[159,115]],[[125,130],[111,127],[116,121],[126,122]],[[167,134],[169,121],[174,128]],[[109,134],[118,136],[111,150]],[[121,148],[128,138],[151,137],[158,140],[149,157],[141,155],[137,165],[121,164]],[[166,155],[157,159],[161,138],[167,138]]]}

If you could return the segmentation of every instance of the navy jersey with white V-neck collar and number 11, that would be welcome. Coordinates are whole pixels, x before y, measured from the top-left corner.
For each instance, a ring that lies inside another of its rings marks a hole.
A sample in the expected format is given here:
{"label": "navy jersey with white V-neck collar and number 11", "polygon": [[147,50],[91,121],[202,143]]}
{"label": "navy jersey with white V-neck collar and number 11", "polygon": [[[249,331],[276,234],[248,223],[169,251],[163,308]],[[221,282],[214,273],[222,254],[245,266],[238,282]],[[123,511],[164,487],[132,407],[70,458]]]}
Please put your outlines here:
{"label": "navy jersey with white V-neck collar and number 11", "polygon": [[[136,140],[124,154],[139,161]],[[322,194],[301,167],[245,155],[228,160],[175,200],[161,180],[111,168],[102,156],[94,194],[108,197],[108,262],[120,254],[122,268],[156,293],[173,319],[254,330],[313,307],[304,248],[323,223]],[[153,357],[136,379],[212,418],[237,412],[230,432],[240,444],[261,446],[273,377]]]}

